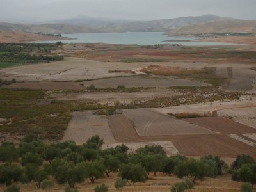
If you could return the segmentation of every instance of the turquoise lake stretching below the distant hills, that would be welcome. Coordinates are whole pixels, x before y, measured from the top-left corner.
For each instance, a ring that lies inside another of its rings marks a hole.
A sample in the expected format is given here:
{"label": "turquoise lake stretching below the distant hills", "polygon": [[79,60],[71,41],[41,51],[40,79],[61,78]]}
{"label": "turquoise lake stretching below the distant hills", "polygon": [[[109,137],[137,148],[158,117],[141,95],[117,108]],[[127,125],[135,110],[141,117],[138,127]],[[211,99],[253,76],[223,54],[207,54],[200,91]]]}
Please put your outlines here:
{"label": "turquoise lake stretching below the distant hills", "polygon": [[[61,40],[63,43],[107,43],[107,44],[180,44],[184,46],[238,45],[222,42],[180,42],[179,40],[195,40],[193,37],[166,36],[163,32],[126,32],[126,33],[74,33],[61,34],[73,40]],[[172,42],[164,42],[172,40]],[[175,42],[175,40],[178,40]],[[44,41],[54,43],[56,41]]]}

